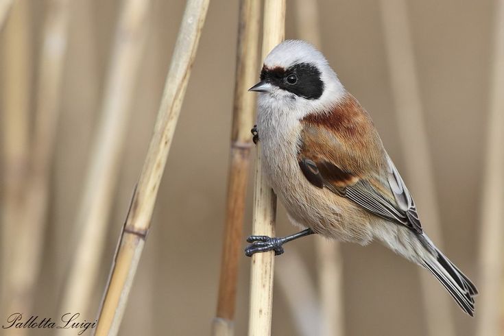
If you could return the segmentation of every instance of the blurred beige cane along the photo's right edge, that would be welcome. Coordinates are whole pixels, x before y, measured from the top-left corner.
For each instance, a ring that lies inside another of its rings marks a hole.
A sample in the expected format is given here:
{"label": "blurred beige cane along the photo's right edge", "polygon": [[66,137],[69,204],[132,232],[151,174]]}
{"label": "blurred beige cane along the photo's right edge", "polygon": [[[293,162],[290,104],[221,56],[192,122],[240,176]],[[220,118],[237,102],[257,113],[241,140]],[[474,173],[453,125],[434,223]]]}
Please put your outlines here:
{"label": "blurred beige cane along the photo's right edge", "polygon": [[504,333],[499,320],[503,298],[504,243],[504,1],[497,1],[491,72],[490,113],[481,197],[479,241],[481,297],[477,314],[478,336]]}

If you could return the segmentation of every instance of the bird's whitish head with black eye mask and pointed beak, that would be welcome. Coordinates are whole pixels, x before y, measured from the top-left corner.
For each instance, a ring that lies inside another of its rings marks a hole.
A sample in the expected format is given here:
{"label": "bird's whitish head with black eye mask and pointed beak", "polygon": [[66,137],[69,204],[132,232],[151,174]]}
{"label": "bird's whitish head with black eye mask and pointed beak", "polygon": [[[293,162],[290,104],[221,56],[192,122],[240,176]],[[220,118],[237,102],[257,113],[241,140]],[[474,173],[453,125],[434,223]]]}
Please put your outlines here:
{"label": "bird's whitish head with black eye mask and pointed beak", "polygon": [[274,47],[264,60],[261,82],[250,91],[260,93],[260,108],[287,108],[298,118],[331,110],[345,93],[324,55],[302,40]]}

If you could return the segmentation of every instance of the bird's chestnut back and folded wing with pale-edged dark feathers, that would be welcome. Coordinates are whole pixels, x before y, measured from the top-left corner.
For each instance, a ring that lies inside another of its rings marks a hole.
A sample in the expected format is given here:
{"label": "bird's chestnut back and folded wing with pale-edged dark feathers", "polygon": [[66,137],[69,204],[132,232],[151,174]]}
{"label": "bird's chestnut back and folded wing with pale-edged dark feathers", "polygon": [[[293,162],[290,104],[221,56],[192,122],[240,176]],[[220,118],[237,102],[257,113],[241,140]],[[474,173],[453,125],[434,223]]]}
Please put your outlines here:
{"label": "bird's chestnut back and folded wing with pale-edged dark feathers", "polygon": [[422,233],[413,197],[367,112],[352,97],[348,99],[328,115],[302,120],[298,152],[302,173],[315,187],[327,188],[376,216]]}

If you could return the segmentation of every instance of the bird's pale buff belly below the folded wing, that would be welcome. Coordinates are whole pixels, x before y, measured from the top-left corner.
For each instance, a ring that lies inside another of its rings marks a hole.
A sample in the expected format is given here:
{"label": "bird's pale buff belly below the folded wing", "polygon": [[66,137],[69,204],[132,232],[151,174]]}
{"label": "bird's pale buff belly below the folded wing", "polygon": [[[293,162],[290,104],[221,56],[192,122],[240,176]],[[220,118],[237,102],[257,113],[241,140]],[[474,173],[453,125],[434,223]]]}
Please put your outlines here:
{"label": "bird's pale buff belly below the folded wing", "polygon": [[346,198],[310,184],[299,167],[296,143],[287,143],[293,136],[282,140],[278,135],[265,139],[260,136],[261,162],[293,224],[333,239],[368,243],[372,239],[368,213]]}

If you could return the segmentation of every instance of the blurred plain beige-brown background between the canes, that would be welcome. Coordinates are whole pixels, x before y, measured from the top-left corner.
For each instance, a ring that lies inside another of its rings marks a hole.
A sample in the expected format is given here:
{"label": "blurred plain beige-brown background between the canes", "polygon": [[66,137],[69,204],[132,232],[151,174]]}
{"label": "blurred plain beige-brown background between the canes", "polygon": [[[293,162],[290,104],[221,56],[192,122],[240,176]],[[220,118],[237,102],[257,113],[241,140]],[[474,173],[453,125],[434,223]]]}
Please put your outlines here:
{"label": "blurred plain beige-brown background between the canes", "polygon": [[[287,38],[296,38],[293,2],[287,2]],[[405,171],[379,2],[319,2],[326,57],[346,88],[368,109],[390,156],[398,169]],[[40,47],[37,32],[43,22],[44,3],[31,1],[35,74]],[[66,264],[75,245],[71,238],[75,213],[120,3],[72,1],[62,115],[45,235],[49,243],[44,250],[36,293],[35,312],[40,316],[58,316]],[[440,202],[444,252],[476,284],[480,174],[488,115],[494,5],[490,0],[408,1],[420,94]],[[101,298],[130,195],[145,158],[183,9],[184,1],[181,0],[152,1],[151,26],[132,99],[132,119],[110,219],[108,248],[94,293],[95,307]],[[120,335],[209,333],[219,280],[237,17],[238,1],[211,1],[160,186],[152,230]],[[82,29],[86,27],[86,20],[93,21],[91,31]],[[0,45],[2,38],[0,34]],[[403,178],[407,182],[409,176],[403,172]],[[415,194],[415,190],[411,192]],[[251,200],[249,192],[245,235],[250,234]],[[421,214],[422,204],[418,204],[418,208]],[[281,210],[278,219],[278,235],[296,230],[287,223]],[[291,243],[286,252],[298,250],[302,254],[315,283],[313,241],[313,237],[309,237]],[[417,267],[378,243],[365,248],[344,244],[342,251],[346,335],[426,335]],[[284,256],[280,256],[276,263],[283,260]],[[245,335],[247,328],[249,268],[250,259],[243,256],[236,335]],[[441,285],[439,295],[448,295]],[[459,311],[455,303],[451,304],[451,309],[457,335],[473,335],[476,319]],[[89,313],[86,320],[93,320],[94,316],[95,311]],[[3,321],[3,317],[0,320]],[[273,335],[296,335],[285,296],[278,290],[274,296],[272,328]],[[32,335],[51,335],[51,331],[34,331]]]}

